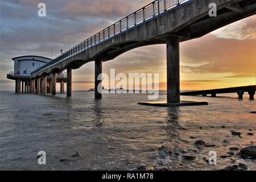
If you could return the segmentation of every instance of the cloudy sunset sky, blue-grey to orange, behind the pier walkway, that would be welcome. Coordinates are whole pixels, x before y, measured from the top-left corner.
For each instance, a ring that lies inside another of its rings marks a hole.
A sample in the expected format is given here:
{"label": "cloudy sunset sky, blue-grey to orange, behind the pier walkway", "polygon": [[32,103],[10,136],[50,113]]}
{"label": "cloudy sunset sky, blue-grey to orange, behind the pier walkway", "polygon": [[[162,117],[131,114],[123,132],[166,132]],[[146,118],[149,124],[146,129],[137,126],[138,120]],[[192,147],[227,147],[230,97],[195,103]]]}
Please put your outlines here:
{"label": "cloudy sunset sky, blue-grey to orange, behind the pier walkway", "polygon": [[[38,4],[46,3],[46,17]],[[150,3],[150,0],[1,0],[0,90],[14,90],[6,74],[11,58],[38,55],[54,58],[90,36]],[[133,49],[103,63],[103,72],[159,73],[166,89],[166,46]],[[180,43],[181,90],[255,85],[256,15],[198,39]],[[73,71],[73,90],[94,88],[94,63]]]}

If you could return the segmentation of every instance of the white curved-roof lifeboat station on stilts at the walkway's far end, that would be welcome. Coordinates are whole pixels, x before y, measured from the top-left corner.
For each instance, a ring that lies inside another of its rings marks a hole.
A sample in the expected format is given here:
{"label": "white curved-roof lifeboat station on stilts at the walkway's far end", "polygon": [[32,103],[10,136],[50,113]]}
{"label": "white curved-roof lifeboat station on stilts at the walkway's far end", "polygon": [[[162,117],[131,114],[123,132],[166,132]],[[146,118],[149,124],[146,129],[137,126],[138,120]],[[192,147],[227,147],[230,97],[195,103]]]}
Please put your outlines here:
{"label": "white curved-roof lifeboat station on stilts at the walkway's far end", "polygon": [[[64,93],[64,83],[67,82],[65,72],[47,75],[47,80],[40,77],[31,78],[32,72],[47,67],[47,64],[52,61],[51,59],[42,56],[20,56],[14,57],[12,60],[14,61],[14,71],[7,74],[7,78],[15,80],[15,93],[56,94],[56,83],[60,83],[60,93]],[[55,86],[52,86],[53,84]]]}

